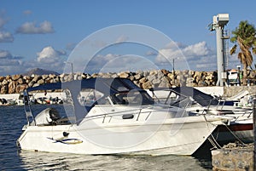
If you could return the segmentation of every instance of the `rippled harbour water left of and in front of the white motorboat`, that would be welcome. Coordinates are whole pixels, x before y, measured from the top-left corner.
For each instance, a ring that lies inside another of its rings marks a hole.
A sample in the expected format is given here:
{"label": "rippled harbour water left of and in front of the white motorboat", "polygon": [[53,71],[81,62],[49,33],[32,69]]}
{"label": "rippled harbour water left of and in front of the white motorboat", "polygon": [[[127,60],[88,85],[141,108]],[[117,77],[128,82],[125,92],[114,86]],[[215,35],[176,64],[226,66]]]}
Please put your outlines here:
{"label": "rippled harbour water left of and in front of the white motorboat", "polygon": [[[45,108],[38,105],[38,108]],[[76,155],[19,151],[23,106],[0,106],[0,170],[212,170],[211,160],[181,156]]]}

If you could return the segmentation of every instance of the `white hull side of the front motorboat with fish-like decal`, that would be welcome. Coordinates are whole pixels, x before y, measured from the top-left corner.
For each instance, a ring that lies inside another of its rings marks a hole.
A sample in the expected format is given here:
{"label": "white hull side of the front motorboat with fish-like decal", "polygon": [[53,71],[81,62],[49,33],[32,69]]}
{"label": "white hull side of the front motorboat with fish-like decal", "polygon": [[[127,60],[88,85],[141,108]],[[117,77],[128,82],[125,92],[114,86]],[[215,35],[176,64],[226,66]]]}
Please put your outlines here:
{"label": "white hull side of the front motorboat with fish-like decal", "polygon": [[29,151],[192,155],[217,127],[203,116],[171,118],[162,123],[96,124],[27,126],[17,142],[22,150]]}

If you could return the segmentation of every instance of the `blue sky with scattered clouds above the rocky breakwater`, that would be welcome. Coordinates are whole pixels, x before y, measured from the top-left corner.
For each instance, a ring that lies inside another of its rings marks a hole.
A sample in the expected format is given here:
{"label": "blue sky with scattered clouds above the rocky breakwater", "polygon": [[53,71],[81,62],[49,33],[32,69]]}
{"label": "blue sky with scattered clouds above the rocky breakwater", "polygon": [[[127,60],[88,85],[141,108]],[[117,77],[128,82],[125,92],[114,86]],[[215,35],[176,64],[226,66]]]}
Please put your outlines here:
{"label": "blue sky with scattered clouds above the rocky breakwater", "polygon": [[[215,32],[207,30],[212,16],[230,14],[226,28],[233,31],[241,20],[255,25],[255,6],[253,0],[246,3],[223,0],[0,0],[0,75],[23,73],[35,67],[61,73],[74,47],[85,37],[106,27],[122,24],[143,25],[162,32],[177,43],[184,56],[188,56],[189,69],[215,71]],[[125,36],[123,32],[120,38]],[[103,39],[96,41],[104,45]],[[230,43],[230,47],[232,45]],[[99,71],[99,67],[104,65],[109,66],[108,71],[111,71],[113,65],[106,65],[110,60],[119,65],[132,63],[134,70],[148,70],[151,66],[172,70],[172,65],[160,64],[158,59],[158,53],[163,50],[174,55],[172,48],[155,50],[134,44],[130,48],[127,46],[130,45],[101,50],[90,62],[87,71]],[[126,54],[133,55],[120,58]],[[129,59],[133,59],[132,62]],[[139,59],[146,59],[151,66],[146,65],[147,62],[137,62]],[[176,62],[177,69],[184,65],[178,59]],[[239,64],[236,55],[230,56],[229,68],[236,68]],[[120,68],[119,71],[131,70],[130,66],[125,65]]]}

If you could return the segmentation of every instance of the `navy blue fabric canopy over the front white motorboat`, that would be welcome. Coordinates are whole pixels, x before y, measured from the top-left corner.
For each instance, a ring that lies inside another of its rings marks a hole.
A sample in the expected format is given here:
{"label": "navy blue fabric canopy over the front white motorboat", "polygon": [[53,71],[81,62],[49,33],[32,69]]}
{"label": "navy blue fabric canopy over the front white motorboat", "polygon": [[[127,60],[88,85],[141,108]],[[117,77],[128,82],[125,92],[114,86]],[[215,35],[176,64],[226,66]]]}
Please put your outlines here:
{"label": "navy blue fabric canopy over the front white motorboat", "polygon": [[[24,92],[24,94],[25,94],[25,99],[27,99],[26,94],[31,91],[68,89],[73,99],[73,106],[75,109],[74,114],[76,117],[76,122],[79,124],[82,121],[82,119],[87,115],[87,113],[90,111],[91,107],[93,106],[91,105],[87,107],[87,106],[80,105],[79,103],[78,97],[79,97],[80,91],[87,88],[95,89],[96,91],[99,91],[102,94],[104,94],[104,96],[112,96],[114,94],[127,93],[127,92],[130,92],[131,90],[137,90],[137,92],[146,94],[146,92],[142,88],[138,88],[137,85],[131,82],[130,79],[102,78],[102,77],[83,79],[83,80],[74,80],[74,81],[65,82],[65,83],[45,83],[37,87],[26,88],[26,91]],[[149,98],[149,95],[147,98]],[[25,100],[25,101],[28,101],[28,100]],[[97,101],[94,104],[96,103]],[[26,103],[26,105],[28,105],[28,103]],[[31,114],[29,113],[29,115],[27,116],[31,116]]]}

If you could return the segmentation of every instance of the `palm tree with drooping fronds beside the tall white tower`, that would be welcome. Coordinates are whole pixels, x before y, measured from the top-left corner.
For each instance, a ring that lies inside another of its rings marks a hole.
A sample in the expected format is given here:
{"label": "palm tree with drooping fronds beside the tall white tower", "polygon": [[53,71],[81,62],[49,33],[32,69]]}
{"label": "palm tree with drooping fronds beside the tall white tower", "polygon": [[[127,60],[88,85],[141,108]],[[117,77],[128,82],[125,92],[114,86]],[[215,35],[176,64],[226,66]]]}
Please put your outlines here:
{"label": "palm tree with drooping fronds beside the tall white tower", "polygon": [[230,38],[232,43],[235,43],[233,48],[230,49],[230,54],[236,53],[237,44],[240,47],[238,59],[243,66],[243,83],[247,78],[247,67],[252,69],[253,54],[256,54],[256,29],[253,25],[249,24],[247,20],[241,20],[239,26],[235,31],[232,31],[233,37]]}

